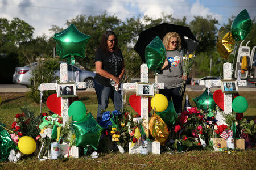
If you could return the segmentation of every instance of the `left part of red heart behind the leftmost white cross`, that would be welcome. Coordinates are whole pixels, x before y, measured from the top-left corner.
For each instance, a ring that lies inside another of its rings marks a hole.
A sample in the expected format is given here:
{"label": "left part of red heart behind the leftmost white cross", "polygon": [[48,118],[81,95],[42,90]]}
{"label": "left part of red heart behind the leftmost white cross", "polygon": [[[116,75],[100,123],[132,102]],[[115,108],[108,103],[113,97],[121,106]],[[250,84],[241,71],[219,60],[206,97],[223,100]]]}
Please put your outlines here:
{"label": "left part of red heart behind the leftmost white cross", "polygon": [[61,102],[60,97],[57,97],[57,94],[50,95],[46,100],[46,105],[50,111],[61,116]]}

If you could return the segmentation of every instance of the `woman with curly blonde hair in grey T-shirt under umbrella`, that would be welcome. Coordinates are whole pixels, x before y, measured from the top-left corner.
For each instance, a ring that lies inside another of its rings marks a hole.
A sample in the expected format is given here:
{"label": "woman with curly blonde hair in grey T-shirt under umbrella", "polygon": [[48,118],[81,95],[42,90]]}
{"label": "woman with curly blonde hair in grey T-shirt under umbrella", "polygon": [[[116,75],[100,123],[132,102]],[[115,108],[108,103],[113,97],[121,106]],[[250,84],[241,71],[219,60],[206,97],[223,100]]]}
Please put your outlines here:
{"label": "woman with curly blonde hair in grey T-shirt under umbrella", "polygon": [[158,75],[158,82],[164,83],[164,89],[159,89],[159,93],[167,97],[168,101],[172,99],[176,113],[182,112],[182,100],[184,91],[179,94],[183,79],[181,40],[176,32],[168,32],[163,37],[163,45],[166,48],[166,61],[162,67],[161,74]]}

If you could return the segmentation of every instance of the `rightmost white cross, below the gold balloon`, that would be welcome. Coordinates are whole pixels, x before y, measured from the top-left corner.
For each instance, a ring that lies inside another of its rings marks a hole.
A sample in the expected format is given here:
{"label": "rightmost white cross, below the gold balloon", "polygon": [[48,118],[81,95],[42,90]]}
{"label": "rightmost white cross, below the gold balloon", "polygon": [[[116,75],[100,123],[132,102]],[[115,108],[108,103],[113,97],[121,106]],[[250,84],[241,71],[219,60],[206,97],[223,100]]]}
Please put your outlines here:
{"label": "rightmost white cross, below the gold balloon", "polygon": [[[223,80],[232,79],[232,64],[229,62],[223,65]],[[238,86],[247,86],[246,80],[237,80]],[[207,88],[214,86],[221,86],[221,80],[206,80],[205,86]],[[224,93],[224,114],[232,113],[232,94]],[[217,117],[216,117],[217,118]]]}

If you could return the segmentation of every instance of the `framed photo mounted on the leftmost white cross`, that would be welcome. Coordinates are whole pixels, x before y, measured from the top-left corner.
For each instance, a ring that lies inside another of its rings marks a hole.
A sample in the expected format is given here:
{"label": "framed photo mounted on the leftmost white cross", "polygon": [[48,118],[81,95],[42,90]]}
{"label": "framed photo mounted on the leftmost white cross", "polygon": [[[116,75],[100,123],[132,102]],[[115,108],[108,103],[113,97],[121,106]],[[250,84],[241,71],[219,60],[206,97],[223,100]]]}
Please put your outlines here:
{"label": "framed photo mounted on the leftmost white cross", "polygon": [[57,97],[76,97],[75,83],[58,83]]}

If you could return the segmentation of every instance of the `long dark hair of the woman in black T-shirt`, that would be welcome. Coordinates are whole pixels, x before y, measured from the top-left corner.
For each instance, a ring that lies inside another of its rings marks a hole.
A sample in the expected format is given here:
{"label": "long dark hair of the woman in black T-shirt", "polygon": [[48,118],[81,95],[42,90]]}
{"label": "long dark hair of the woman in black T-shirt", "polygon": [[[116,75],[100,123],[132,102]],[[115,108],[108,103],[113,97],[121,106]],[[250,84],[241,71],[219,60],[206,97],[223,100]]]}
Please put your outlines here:
{"label": "long dark hair of the woman in black T-shirt", "polygon": [[100,48],[105,54],[108,54],[108,44],[106,41],[108,41],[108,38],[110,35],[115,36],[115,46],[114,46],[114,51],[119,52],[119,47],[118,47],[118,38],[117,35],[113,31],[106,31],[102,34],[101,36],[101,41],[100,45],[98,45],[98,48]]}

